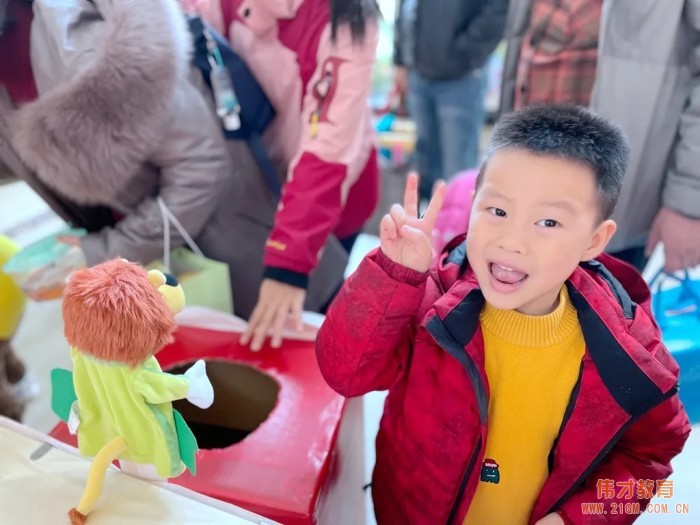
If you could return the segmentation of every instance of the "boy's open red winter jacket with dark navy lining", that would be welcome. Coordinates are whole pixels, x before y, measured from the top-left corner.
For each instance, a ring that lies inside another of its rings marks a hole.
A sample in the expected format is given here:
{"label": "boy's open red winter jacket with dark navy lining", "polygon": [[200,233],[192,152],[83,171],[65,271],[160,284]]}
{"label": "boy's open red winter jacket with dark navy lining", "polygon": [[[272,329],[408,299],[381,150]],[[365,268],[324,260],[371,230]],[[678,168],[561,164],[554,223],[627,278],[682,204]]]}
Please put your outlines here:
{"label": "boy's open red winter jacket with dark navy lining", "polygon": [[[583,515],[581,504],[599,500],[598,479],[669,476],[690,432],[678,366],[630,267],[601,256],[566,286],[587,348],[530,523],[554,511],[573,524],[631,523],[636,516],[610,507]],[[373,252],[321,328],[318,360],[331,387],[348,397],[389,390],[372,483],[380,525],[461,525],[466,516],[487,440],[483,303],[462,237],[429,276]]]}

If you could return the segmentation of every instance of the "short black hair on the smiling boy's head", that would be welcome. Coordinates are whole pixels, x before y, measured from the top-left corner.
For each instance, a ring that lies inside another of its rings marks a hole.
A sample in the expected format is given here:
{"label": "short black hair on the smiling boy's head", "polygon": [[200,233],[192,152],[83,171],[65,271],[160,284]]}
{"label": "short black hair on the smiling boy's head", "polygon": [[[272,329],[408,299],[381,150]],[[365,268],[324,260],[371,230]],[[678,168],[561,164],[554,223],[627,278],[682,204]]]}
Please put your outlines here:
{"label": "short black hair on the smiling boy's head", "polygon": [[502,116],[493,130],[477,178],[480,187],[489,159],[505,148],[564,158],[589,167],[596,177],[601,220],[610,218],[627,170],[629,145],[612,122],[573,105],[532,106]]}

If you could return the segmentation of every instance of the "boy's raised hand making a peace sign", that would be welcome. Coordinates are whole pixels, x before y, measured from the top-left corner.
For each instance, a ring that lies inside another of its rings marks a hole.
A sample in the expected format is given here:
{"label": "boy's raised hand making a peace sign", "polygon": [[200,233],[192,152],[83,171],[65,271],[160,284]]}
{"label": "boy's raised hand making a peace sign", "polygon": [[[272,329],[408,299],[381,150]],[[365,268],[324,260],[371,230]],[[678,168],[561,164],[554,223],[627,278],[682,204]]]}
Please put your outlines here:
{"label": "boy's raised hand making a peace sign", "polygon": [[389,259],[425,272],[433,260],[432,235],[442,207],[445,183],[439,182],[423,218],[418,218],[418,176],[408,175],[403,206],[394,204],[379,225],[381,250]]}

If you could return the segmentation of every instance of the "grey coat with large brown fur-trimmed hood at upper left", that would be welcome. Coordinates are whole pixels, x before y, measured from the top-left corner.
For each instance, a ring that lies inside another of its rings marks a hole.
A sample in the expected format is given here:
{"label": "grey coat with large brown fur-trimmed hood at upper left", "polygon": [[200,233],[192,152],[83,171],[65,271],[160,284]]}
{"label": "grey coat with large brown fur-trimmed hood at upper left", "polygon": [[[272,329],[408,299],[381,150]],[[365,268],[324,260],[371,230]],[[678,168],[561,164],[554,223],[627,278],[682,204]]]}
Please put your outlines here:
{"label": "grey coat with large brown fur-trimmed hood at upper left", "polygon": [[[35,0],[33,8],[39,98],[0,115],[25,168],[18,175],[78,226],[100,229],[85,219],[92,207],[124,216],[83,240],[90,263],[161,257],[158,195],[198,236],[233,171],[219,122],[191,82],[177,2]],[[171,236],[182,244],[174,228]]]}

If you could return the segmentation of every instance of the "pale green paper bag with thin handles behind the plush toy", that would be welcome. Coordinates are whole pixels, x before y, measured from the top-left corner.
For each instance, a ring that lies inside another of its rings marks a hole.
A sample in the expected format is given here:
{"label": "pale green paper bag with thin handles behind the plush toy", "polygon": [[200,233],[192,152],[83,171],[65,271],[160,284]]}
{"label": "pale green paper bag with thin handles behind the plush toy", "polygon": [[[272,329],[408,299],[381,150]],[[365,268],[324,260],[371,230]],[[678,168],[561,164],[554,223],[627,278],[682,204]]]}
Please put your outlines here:
{"label": "pale green paper bag with thin handles behind the plush toy", "polygon": [[[233,296],[228,264],[205,257],[177,218],[158,198],[163,214],[165,238],[163,259],[147,266],[174,275],[185,292],[187,306],[206,306],[213,310],[233,313]],[[188,248],[170,250],[170,225],[175,226]]]}

